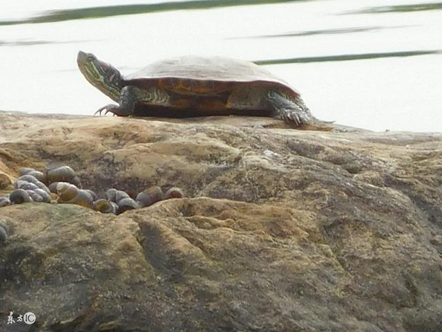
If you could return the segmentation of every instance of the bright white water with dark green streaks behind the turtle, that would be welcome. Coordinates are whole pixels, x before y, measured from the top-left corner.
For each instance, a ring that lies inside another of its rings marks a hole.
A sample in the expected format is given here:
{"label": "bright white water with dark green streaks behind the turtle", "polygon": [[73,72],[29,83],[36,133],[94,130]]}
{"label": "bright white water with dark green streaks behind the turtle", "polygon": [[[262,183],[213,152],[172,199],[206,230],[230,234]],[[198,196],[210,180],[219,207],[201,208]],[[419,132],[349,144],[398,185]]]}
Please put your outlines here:
{"label": "bright white water with dark green streaks behind the turtle", "polygon": [[[212,0],[126,6],[113,0],[106,8],[79,10],[104,1],[5,2],[0,3],[2,110],[93,114],[111,102],[79,73],[78,50],[106,59],[122,73],[166,57],[221,55],[262,63],[300,91],[323,120],[376,131],[441,131],[442,3],[224,6],[266,1]],[[112,7],[119,4],[125,6]]]}

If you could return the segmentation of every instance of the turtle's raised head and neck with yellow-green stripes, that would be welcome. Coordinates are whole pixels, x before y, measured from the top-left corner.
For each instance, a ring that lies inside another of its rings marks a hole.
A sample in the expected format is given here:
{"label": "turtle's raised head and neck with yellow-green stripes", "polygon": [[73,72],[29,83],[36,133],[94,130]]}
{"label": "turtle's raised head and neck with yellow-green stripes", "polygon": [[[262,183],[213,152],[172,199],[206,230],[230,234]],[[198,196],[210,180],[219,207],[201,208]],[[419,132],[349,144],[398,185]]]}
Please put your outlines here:
{"label": "turtle's raised head and neck with yellow-green stripes", "polygon": [[118,69],[97,59],[92,53],[81,50],[77,55],[77,64],[86,80],[99,91],[116,102],[119,100],[119,92],[122,89],[122,74]]}

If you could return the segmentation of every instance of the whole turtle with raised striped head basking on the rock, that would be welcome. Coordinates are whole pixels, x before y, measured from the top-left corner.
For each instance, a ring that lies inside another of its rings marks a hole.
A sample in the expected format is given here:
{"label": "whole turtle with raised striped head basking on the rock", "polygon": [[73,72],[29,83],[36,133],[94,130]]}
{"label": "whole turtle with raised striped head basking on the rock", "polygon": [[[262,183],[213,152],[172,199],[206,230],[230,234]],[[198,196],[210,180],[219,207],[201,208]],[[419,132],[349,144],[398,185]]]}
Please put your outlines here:
{"label": "whole turtle with raised striped head basking on the rock", "polygon": [[118,103],[98,109],[95,114],[100,116],[103,111],[165,118],[268,116],[294,127],[320,122],[296,89],[253,62],[184,56],[153,62],[124,76],[80,50],[77,64],[90,84]]}

